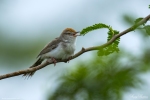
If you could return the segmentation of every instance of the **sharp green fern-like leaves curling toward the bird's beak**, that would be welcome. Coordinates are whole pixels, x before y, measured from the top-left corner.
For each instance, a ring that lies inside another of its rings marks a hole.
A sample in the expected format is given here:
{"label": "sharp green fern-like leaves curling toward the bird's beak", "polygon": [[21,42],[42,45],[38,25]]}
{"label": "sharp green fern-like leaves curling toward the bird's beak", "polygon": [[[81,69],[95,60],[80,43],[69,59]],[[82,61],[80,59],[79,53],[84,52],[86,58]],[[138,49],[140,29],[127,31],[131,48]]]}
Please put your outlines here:
{"label": "sharp green fern-like leaves curling toward the bird's beak", "polygon": [[[88,32],[91,32],[97,29],[102,29],[102,28],[107,28],[109,30],[107,33],[108,34],[107,41],[109,41],[116,34],[119,34],[119,31],[113,30],[111,26],[103,24],[103,23],[98,23],[98,24],[94,24],[92,26],[86,27],[80,32],[80,34],[85,35]],[[120,41],[120,38],[116,39],[111,45],[99,49],[97,53],[98,56],[107,56],[109,54],[112,54],[113,52],[119,52],[119,48],[118,48],[119,41]]]}

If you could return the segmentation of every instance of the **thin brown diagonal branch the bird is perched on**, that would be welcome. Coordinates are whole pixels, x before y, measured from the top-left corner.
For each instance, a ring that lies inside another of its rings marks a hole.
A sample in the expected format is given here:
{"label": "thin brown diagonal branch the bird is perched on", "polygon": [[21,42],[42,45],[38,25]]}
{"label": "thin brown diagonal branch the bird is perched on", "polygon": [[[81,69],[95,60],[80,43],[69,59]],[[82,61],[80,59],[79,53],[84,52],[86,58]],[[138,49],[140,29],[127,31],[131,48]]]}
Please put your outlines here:
{"label": "thin brown diagonal branch the bird is perched on", "polygon": [[[90,48],[82,48],[81,51],[79,51],[78,53],[76,53],[74,56],[72,56],[72,59],[75,59],[77,58],[78,56],[80,56],[81,54],[85,53],[85,52],[88,52],[88,51],[93,51],[93,50],[99,50],[101,48],[104,48],[104,47],[107,47],[108,45],[112,44],[117,38],[121,37],[122,35],[125,35],[133,30],[135,30],[138,26],[146,23],[148,20],[150,19],[150,15],[148,15],[147,17],[143,18],[140,22],[138,22],[137,24],[131,26],[130,28],[124,30],[123,32],[115,35],[111,40],[109,40],[107,43],[101,45],[101,46],[95,46],[95,47],[90,47]],[[66,62],[67,59],[65,60],[57,60],[57,63],[58,62]],[[8,73],[8,74],[5,74],[5,75],[0,75],[0,80],[2,79],[6,79],[6,78],[9,78],[9,77],[13,77],[13,76],[18,76],[18,75],[21,75],[21,74],[25,74],[27,72],[32,72],[32,71],[37,71],[41,68],[44,68],[45,66],[49,65],[49,64],[52,64],[52,62],[45,62],[37,67],[33,67],[33,68],[28,68],[28,69],[25,69],[25,70],[20,70],[20,71],[16,71],[16,72],[12,72],[12,73]]]}

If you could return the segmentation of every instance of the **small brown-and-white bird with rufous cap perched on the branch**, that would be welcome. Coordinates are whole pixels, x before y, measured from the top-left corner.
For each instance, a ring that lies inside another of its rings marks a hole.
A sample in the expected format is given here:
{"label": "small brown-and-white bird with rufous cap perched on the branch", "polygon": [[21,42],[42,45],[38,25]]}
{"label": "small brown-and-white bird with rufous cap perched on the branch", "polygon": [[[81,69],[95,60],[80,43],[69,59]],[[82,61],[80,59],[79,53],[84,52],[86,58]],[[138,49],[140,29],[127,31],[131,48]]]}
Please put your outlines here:
{"label": "small brown-and-white bird with rufous cap perched on the branch", "polygon": [[[51,60],[56,65],[56,59],[68,59],[74,55],[75,45],[76,45],[76,37],[80,33],[79,31],[75,31],[72,28],[66,28],[62,31],[59,37],[55,38],[51,42],[49,42],[38,54],[37,61],[29,68],[37,67],[40,65],[45,59]],[[27,72],[23,76],[33,76],[33,72]]]}

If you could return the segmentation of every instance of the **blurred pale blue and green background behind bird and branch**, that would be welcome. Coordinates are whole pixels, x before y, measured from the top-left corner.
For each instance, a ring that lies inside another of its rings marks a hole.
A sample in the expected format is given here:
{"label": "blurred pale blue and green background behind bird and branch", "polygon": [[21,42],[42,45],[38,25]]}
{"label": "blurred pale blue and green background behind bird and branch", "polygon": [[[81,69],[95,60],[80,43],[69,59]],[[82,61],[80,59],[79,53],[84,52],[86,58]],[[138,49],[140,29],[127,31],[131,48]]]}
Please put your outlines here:
{"label": "blurred pale blue and green background behind bird and branch", "polygon": [[[40,50],[66,27],[81,31],[95,23],[118,31],[149,14],[149,0],[1,0],[0,75],[28,68]],[[149,22],[148,22],[149,24]],[[77,39],[82,47],[107,41],[107,30]],[[149,100],[150,40],[144,30],[121,37],[121,52],[87,52],[69,63],[49,65],[32,78],[0,80],[0,100]]]}

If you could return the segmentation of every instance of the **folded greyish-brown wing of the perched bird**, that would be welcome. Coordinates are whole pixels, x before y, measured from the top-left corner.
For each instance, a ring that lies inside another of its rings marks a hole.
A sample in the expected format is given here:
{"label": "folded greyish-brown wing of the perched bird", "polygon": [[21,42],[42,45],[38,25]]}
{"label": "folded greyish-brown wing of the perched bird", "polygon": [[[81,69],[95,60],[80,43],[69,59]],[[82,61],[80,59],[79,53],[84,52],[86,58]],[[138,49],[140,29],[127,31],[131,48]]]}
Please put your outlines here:
{"label": "folded greyish-brown wing of the perched bird", "polygon": [[58,44],[60,43],[60,40],[58,38],[56,38],[55,40],[51,41],[49,44],[47,44],[44,49],[39,53],[39,55],[37,57],[39,57],[42,54],[48,53],[51,50],[55,49]]}

